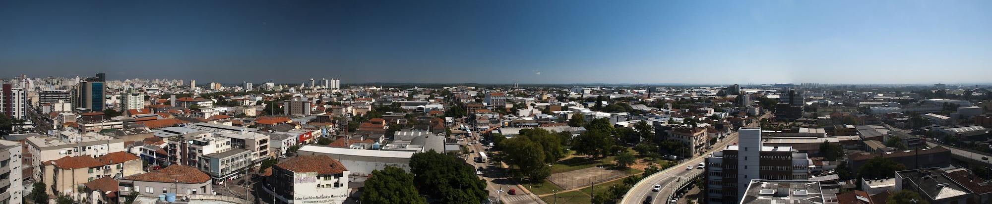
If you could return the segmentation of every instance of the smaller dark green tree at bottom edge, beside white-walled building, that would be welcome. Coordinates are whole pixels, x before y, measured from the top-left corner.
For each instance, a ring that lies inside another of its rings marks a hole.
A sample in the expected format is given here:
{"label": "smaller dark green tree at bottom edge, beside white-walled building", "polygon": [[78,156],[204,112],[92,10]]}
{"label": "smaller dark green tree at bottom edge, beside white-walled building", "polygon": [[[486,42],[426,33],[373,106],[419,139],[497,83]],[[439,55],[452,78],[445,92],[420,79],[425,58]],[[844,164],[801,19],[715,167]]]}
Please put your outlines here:
{"label": "smaller dark green tree at bottom edge, beside white-walled building", "polygon": [[414,187],[414,174],[395,166],[373,170],[362,190],[363,203],[427,204]]}

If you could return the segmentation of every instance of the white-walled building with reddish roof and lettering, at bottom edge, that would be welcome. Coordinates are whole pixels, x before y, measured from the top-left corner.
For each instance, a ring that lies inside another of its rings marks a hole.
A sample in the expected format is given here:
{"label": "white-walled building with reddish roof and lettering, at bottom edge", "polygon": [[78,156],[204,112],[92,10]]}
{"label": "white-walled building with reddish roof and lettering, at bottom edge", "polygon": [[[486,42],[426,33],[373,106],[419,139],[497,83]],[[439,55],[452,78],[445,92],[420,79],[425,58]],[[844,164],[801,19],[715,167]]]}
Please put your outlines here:
{"label": "white-walled building with reddish roof and lettering, at bottom edge", "polygon": [[275,204],[343,203],[348,169],[327,155],[299,155],[265,169],[265,187]]}

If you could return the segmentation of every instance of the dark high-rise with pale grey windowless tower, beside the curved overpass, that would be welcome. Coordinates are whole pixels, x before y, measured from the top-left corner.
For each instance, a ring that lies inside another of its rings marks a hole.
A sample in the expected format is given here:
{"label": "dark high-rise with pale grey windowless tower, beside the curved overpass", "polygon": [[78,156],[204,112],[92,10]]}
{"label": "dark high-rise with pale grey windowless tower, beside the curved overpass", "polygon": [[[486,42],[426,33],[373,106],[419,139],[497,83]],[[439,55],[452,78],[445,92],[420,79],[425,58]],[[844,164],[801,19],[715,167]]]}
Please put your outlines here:
{"label": "dark high-rise with pale grey windowless tower, beside the curved overpass", "polygon": [[761,128],[738,130],[739,144],[706,157],[705,203],[740,203],[752,179],[807,180],[809,157],[792,147],[763,146]]}

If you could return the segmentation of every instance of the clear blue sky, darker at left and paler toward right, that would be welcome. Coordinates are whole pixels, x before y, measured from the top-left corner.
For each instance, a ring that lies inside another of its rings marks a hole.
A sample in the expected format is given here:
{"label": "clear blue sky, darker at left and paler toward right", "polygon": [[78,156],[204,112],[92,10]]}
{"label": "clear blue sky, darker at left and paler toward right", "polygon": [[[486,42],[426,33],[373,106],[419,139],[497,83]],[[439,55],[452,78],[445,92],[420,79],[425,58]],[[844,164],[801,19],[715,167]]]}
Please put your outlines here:
{"label": "clear blue sky, darker at left and paler toward right", "polygon": [[992,1],[0,1],[0,77],[987,83]]}

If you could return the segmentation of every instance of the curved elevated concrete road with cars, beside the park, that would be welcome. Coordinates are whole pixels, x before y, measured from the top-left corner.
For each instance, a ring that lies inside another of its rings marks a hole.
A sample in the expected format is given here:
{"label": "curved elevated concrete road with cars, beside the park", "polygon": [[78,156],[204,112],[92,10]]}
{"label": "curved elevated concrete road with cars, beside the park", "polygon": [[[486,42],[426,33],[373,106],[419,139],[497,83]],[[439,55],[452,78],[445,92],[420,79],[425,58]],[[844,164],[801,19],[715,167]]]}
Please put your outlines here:
{"label": "curved elevated concrete road with cars, beside the park", "polygon": [[[760,118],[767,118],[769,116],[771,115],[765,114]],[[758,123],[751,123],[747,127],[755,127],[757,125]],[[696,155],[691,159],[683,160],[682,162],[679,163],[679,165],[676,165],[669,169],[665,169],[661,172],[657,172],[655,174],[649,175],[648,177],[645,177],[644,179],[641,180],[641,182],[638,182],[633,187],[631,187],[630,190],[627,191],[627,194],[624,195],[623,199],[621,199],[619,203],[621,204],[645,203],[648,196],[652,197],[652,201],[648,203],[667,203],[665,199],[667,199],[669,195],[672,195],[673,192],[678,190],[675,188],[679,187],[679,184],[681,182],[683,182],[686,178],[690,176],[694,176],[698,173],[702,173],[704,170],[699,168],[692,168],[691,170],[686,170],[685,166],[688,165],[696,166],[699,164],[699,162],[704,161],[705,156],[709,155],[709,153],[723,150],[722,147],[726,147],[727,145],[732,145],[734,143],[737,143],[736,132],[731,134],[730,136],[727,136],[722,141],[717,142],[716,145],[713,146],[713,150],[703,153],[702,155]],[[652,188],[654,188],[656,184],[662,185],[662,189],[657,192],[652,190]]]}

